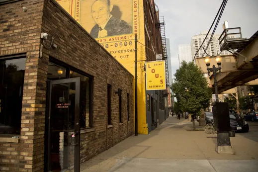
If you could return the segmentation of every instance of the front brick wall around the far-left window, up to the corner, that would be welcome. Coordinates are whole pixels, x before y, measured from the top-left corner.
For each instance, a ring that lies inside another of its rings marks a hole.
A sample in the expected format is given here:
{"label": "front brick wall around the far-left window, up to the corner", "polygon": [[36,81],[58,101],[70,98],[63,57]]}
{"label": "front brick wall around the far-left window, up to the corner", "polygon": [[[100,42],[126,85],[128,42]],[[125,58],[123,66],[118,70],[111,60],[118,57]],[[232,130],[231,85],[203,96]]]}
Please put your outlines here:
{"label": "front brick wall around the far-left window, up to the corner", "polygon": [[[26,57],[21,135],[19,143],[0,142],[0,171],[32,172],[43,168],[45,108],[27,111],[31,103],[45,104],[45,83],[39,73],[39,45],[44,0],[20,0],[0,5],[0,56]],[[26,6],[24,12],[22,7]],[[2,139],[1,139],[2,140]]]}

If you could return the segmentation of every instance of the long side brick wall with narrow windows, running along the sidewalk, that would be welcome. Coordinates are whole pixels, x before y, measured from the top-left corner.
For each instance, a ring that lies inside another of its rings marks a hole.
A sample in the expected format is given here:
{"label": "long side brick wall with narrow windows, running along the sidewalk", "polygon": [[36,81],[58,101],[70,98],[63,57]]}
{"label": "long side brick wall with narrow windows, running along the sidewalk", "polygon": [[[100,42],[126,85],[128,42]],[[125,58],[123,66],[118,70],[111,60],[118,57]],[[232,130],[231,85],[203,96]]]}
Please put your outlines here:
{"label": "long side brick wall with narrow windows, running along the sidewalk", "polygon": [[[134,131],[133,76],[107,51],[64,12],[57,3],[46,0],[43,9],[42,32],[54,36],[57,49],[44,49],[43,58],[54,57],[94,77],[93,128],[81,134],[81,162],[114,146]],[[107,128],[107,84],[111,91],[111,122]],[[119,123],[119,96],[122,89],[122,121]],[[130,94],[130,123],[127,121],[127,93]]]}

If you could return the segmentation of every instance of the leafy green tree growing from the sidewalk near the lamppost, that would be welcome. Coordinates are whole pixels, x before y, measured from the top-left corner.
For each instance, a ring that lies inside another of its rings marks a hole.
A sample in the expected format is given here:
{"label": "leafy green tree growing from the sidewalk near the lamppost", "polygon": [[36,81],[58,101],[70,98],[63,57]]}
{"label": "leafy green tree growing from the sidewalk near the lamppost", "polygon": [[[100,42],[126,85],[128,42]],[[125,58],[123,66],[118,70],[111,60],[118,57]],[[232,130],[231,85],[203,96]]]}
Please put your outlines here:
{"label": "leafy green tree growing from the sidewalk near the lamppost", "polygon": [[[171,89],[181,110],[196,115],[201,109],[209,107],[212,91],[200,68],[193,62],[183,61],[174,77]],[[193,129],[195,130],[194,120]]]}

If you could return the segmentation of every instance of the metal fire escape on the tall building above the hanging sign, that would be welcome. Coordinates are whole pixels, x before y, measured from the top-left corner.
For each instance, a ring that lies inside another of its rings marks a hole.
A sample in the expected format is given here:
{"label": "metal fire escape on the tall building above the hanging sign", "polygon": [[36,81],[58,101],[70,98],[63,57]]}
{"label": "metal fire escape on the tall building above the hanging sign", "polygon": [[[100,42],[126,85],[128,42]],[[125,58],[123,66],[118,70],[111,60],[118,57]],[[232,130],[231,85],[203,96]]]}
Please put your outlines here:
{"label": "metal fire escape on the tall building above the hanging sign", "polygon": [[170,78],[169,78],[165,24],[166,23],[165,23],[164,17],[159,17],[159,23],[156,23],[156,28],[159,28],[160,32],[161,32],[162,53],[163,53],[163,60],[165,60],[166,86],[169,87],[170,86]]}

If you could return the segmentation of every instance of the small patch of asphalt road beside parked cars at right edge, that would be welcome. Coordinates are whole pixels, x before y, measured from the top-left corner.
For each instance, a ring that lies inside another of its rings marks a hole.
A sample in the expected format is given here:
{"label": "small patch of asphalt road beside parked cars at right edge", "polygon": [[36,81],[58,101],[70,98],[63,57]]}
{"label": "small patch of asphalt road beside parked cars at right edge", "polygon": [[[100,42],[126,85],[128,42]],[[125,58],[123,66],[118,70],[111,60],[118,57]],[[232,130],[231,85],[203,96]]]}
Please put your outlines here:
{"label": "small patch of asphalt road beside parked cars at right edge", "polygon": [[249,125],[248,133],[236,133],[236,135],[241,135],[247,139],[258,142],[258,121],[247,121]]}

